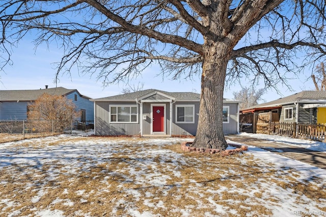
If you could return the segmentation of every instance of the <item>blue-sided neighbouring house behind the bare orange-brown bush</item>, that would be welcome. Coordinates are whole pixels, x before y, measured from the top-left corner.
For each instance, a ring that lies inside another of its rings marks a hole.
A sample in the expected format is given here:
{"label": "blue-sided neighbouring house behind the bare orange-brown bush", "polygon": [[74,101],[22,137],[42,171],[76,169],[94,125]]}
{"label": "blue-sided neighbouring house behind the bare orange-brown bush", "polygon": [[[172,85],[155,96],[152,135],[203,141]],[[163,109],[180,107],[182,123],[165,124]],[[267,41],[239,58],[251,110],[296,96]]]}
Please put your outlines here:
{"label": "blue-sided neighbouring house behind the bare orange-brown bush", "polygon": [[[43,93],[65,96],[71,99],[80,111],[79,122],[94,121],[94,104],[89,97],[83,96],[77,90],[63,87],[39,90],[0,90],[0,120],[26,120],[28,105]],[[88,123],[87,123],[88,124]]]}

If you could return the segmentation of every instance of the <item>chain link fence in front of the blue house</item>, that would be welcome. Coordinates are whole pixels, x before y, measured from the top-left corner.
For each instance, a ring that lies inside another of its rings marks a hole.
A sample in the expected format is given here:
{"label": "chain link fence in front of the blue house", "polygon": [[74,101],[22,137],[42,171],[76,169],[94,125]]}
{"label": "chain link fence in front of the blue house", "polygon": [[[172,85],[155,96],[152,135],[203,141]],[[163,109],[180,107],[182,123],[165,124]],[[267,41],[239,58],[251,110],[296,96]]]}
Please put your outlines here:
{"label": "chain link fence in front of the blue house", "polygon": [[74,125],[60,120],[5,120],[0,121],[0,143],[25,138],[46,137],[72,131]]}

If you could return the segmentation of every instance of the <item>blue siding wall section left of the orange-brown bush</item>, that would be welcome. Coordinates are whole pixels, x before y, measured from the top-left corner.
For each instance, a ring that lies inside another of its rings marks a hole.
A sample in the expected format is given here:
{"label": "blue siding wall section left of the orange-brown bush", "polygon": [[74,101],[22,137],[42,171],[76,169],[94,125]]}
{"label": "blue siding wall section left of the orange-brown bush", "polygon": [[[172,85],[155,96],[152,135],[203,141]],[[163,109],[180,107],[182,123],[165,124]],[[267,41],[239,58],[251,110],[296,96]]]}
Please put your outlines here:
{"label": "blue siding wall section left of the orange-brown bush", "polygon": [[0,120],[26,120],[28,102],[0,102]]}

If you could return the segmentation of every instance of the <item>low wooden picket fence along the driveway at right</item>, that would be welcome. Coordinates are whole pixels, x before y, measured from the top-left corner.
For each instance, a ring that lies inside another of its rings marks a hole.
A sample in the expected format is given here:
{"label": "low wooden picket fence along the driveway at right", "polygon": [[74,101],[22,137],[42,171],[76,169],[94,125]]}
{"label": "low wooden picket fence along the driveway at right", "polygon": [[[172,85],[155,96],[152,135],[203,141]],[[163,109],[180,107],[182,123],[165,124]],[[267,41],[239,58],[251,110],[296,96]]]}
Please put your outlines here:
{"label": "low wooden picket fence along the driveway at right", "polygon": [[283,135],[286,137],[309,139],[314,141],[326,142],[325,140],[325,124],[297,124],[270,122],[268,126],[268,134]]}

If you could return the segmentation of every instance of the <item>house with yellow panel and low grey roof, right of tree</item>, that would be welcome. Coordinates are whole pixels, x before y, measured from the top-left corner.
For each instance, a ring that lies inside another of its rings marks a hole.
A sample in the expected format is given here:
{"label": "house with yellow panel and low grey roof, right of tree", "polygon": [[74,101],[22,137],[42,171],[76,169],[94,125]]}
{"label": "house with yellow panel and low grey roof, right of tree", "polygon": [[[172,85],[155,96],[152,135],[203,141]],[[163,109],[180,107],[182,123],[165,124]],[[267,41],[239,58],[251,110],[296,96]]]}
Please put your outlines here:
{"label": "house with yellow panel and low grey roof, right of tree", "polygon": [[326,123],[326,91],[302,91],[240,110],[240,113],[273,112],[280,122]]}

